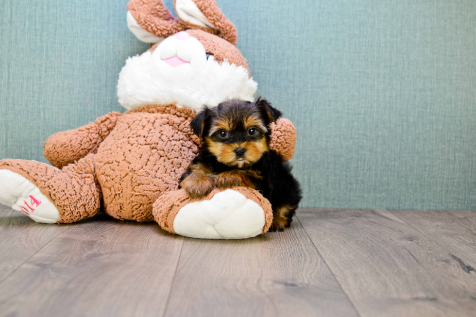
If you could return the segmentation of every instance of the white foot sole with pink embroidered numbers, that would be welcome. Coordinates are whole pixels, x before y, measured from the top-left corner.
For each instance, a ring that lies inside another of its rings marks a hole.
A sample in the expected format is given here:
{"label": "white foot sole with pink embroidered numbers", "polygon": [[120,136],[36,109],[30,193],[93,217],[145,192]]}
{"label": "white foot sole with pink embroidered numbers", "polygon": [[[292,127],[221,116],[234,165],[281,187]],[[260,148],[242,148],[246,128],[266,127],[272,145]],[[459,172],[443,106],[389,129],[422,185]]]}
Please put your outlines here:
{"label": "white foot sole with pink embroidered numbers", "polygon": [[56,223],[58,209],[23,176],[0,169],[0,203],[26,214],[36,222]]}

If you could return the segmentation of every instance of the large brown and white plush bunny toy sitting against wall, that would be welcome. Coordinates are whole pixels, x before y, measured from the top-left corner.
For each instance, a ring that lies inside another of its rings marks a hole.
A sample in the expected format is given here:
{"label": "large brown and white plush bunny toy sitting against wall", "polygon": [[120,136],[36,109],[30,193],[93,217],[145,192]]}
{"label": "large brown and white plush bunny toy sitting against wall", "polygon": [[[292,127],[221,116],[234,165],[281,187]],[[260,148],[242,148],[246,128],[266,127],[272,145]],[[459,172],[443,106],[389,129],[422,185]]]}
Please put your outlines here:
{"label": "large brown and white plush bunny toy sitting against wall", "polygon": [[[131,0],[129,29],[156,43],[129,58],[119,74],[119,103],[78,129],[44,144],[54,166],[0,161],[0,203],[36,222],[71,223],[104,212],[121,220],[157,221],[171,232],[197,238],[240,239],[265,233],[268,200],[251,188],[214,189],[203,200],[177,190],[200,140],[189,129],[203,105],[230,98],[254,100],[257,84],[235,47],[237,31],[214,0],[175,0],[175,19],[162,0]],[[289,160],[295,129],[272,125],[272,149]]]}

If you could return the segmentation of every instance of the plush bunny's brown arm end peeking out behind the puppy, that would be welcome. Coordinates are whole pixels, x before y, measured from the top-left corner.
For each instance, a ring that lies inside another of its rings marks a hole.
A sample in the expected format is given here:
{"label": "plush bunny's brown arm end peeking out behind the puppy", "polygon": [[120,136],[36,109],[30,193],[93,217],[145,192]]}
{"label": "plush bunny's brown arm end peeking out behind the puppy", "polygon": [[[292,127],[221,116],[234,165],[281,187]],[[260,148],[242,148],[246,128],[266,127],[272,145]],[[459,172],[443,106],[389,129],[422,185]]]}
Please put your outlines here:
{"label": "plush bunny's brown arm end peeking out behind the puppy", "polygon": [[294,155],[296,145],[296,128],[288,119],[279,119],[271,124],[270,148],[275,150],[285,161],[289,161]]}

